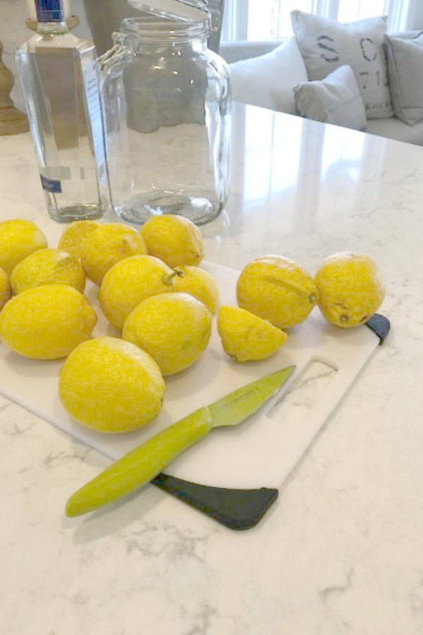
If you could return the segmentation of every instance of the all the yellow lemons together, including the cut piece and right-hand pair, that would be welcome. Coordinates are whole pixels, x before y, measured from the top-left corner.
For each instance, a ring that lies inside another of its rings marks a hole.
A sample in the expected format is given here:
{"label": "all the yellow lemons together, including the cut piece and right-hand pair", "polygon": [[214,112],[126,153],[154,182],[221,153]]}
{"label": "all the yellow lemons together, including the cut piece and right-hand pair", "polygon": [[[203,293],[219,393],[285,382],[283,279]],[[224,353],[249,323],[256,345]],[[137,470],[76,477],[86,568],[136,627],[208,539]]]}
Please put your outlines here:
{"label": "all the yellow lemons together, including the cut piece and right-hand pair", "polygon": [[[1,340],[27,358],[63,358],[59,396],[68,413],[95,430],[121,433],[157,416],[165,377],[202,356],[214,313],[223,350],[245,362],[276,353],[314,306],[329,322],[355,327],[384,299],[368,256],[332,255],[312,277],[293,260],[268,255],[240,272],[237,306],[219,307],[203,258],[200,229],[174,214],[152,217],[140,230],[73,222],[56,248],[30,221],[0,222]],[[87,279],[98,287],[110,336],[93,335],[98,315]]]}

